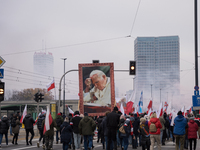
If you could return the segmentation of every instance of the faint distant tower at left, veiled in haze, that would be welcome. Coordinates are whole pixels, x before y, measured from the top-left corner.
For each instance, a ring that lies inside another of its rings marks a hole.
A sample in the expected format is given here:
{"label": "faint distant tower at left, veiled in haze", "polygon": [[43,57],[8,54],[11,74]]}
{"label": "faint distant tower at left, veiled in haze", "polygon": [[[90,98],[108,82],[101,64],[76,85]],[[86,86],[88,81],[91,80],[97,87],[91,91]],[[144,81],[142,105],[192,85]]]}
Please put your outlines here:
{"label": "faint distant tower at left, veiled in haze", "polygon": [[53,55],[46,52],[35,52],[33,56],[34,72],[45,76],[54,76],[53,72]]}

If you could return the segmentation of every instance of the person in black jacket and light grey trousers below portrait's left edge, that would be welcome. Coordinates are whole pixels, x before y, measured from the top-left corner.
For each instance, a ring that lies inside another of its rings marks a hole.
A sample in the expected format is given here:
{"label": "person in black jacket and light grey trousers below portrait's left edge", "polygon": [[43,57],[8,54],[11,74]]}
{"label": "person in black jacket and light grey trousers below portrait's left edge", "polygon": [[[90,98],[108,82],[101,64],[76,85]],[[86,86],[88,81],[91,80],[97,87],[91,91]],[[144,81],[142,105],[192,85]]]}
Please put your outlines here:
{"label": "person in black jacket and light grey trousers below portrait's left edge", "polygon": [[75,111],[74,112],[74,117],[70,120],[70,125],[73,128],[73,138],[74,138],[74,145],[75,145],[75,149],[80,149],[80,145],[81,145],[81,135],[79,132],[79,122],[81,121],[81,117],[79,116],[79,111]]}

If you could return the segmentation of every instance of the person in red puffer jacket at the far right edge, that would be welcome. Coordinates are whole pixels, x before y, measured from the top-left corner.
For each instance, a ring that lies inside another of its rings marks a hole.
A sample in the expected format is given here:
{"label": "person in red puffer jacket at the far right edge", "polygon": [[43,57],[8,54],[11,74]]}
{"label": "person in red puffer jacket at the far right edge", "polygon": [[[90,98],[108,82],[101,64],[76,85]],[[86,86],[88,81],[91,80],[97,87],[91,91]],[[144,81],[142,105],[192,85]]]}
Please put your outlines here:
{"label": "person in red puffer jacket at the far right edge", "polygon": [[194,121],[194,117],[189,118],[188,122],[188,139],[190,142],[190,149],[192,149],[192,141],[194,141],[194,150],[196,149],[197,144],[197,131],[198,131],[198,125]]}

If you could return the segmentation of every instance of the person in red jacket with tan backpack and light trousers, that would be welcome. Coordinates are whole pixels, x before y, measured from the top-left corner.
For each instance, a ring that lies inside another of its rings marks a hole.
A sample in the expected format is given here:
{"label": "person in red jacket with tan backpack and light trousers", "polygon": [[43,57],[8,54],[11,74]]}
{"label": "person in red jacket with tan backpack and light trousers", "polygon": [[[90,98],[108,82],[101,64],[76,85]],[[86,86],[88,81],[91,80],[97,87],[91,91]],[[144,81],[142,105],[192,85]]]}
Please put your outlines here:
{"label": "person in red jacket with tan backpack and light trousers", "polygon": [[[156,131],[151,131],[150,127],[153,126],[155,124],[156,127]],[[150,120],[148,122],[148,127],[149,127],[149,134],[150,134],[150,140],[151,140],[151,146],[150,146],[150,150],[154,149],[154,144],[155,141],[157,142],[158,145],[158,150],[161,150],[161,141],[160,141],[160,129],[162,128],[162,125],[160,123],[160,120],[157,118],[156,113],[152,113]]]}

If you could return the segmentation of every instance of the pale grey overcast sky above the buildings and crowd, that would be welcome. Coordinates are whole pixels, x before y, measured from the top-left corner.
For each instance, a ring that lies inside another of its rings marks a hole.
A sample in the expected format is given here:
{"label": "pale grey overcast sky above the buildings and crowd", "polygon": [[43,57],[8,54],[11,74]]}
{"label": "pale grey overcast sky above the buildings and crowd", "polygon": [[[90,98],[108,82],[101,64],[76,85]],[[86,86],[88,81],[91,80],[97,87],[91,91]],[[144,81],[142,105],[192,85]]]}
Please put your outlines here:
{"label": "pale grey overcast sky above the buildings and crowd", "polygon": [[[33,73],[33,55],[45,47],[53,54],[58,84],[64,71],[63,57],[67,58],[66,71],[94,59],[114,62],[116,70],[128,70],[136,37],[171,35],[180,38],[181,93],[185,99],[178,103],[190,105],[195,85],[194,0],[0,1],[0,56],[6,60],[2,66],[6,89],[33,87],[32,81],[27,81]],[[40,76],[34,79],[41,88],[51,81]],[[68,74],[66,80],[70,92],[66,99],[78,98],[78,73]],[[115,86],[119,96],[125,95],[133,89],[133,76],[116,72]]]}

